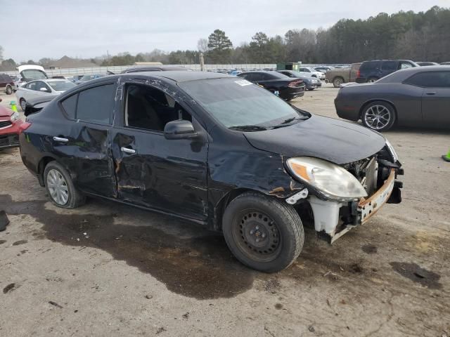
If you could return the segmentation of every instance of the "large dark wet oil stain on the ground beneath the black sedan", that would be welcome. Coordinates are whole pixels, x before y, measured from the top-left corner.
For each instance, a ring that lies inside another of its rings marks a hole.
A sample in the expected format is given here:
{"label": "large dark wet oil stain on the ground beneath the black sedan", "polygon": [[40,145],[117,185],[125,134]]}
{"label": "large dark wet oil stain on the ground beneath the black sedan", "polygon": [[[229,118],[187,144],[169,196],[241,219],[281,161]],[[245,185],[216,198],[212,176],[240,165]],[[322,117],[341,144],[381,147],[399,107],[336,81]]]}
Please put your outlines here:
{"label": "large dark wet oil stain on the ground beneath the black sedan", "polygon": [[[9,195],[0,195],[0,204],[6,206],[8,213],[33,216],[43,224],[48,239],[107,251],[184,296],[233,297],[250,289],[257,275],[231,256],[220,234],[212,234],[203,227],[176,220],[176,226],[184,233],[172,235],[155,227],[117,224],[113,215],[59,214],[45,209],[45,203],[13,202]],[[161,223],[169,218],[121,205],[115,205],[115,211],[117,207],[131,216],[137,213],[148,218],[148,223]]]}

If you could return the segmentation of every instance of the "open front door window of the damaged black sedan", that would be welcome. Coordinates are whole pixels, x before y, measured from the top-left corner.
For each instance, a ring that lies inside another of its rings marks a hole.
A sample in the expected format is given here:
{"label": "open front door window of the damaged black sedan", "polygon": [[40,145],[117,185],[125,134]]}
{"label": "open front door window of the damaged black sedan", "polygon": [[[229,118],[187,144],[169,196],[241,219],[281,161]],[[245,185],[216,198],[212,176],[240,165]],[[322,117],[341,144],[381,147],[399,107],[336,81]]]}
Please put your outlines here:
{"label": "open front door window of the damaged black sedan", "polygon": [[164,131],[169,121],[192,121],[191,114],[172,96],[152,86],[127,86],[124,112],[125,126],[151,131]]}

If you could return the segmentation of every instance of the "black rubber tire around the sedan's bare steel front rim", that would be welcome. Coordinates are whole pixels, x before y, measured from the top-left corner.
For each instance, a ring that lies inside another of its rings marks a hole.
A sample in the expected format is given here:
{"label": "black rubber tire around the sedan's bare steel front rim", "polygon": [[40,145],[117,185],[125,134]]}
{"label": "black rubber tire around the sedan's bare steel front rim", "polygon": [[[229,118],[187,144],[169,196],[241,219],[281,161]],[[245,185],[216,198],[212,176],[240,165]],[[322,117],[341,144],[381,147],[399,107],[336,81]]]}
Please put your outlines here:
{"label": "black rubber tire around the sedan's bare steel front rim", "polygon": [[[274,260],[264,263],[252,260],[240,251],[233,239],[231,228],[237,225],[236,221],[240,221],[235,215],[250,208],[260,209],[276,222],[281,237],[281,251]],[[231,253],[244,265],[261,272],[279,272],[292,265],[304,243],[302,220],[293,206],[255,192],[245,192],[230,202],[222,218],[222,231]]]}

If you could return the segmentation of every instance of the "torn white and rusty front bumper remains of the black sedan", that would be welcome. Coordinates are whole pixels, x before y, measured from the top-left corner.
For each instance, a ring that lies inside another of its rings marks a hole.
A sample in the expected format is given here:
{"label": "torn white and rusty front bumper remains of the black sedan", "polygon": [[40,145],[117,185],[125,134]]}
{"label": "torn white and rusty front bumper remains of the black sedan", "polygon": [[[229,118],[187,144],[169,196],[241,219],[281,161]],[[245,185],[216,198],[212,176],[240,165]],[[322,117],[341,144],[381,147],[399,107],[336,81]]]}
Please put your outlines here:
{"label": "torn white and rusty front bumper remains of the black sedan", "polygon": [[[314,227],[317,232],[328,234],[330,243],[335,242],[343,234],[352,230],[371,218],[387,201],[392,191],[396,191],[396,198],[400,198],[399,187],[396,186],[396,170],[391,169],[385,183],[368,199],[359,201],[340,202],[321,200],[318,197],[309,197],[309,204],[314,213]],[[399,202],[399,201],[398,201]],[[342,208],[347,211],[350,222],[342,223]]]}

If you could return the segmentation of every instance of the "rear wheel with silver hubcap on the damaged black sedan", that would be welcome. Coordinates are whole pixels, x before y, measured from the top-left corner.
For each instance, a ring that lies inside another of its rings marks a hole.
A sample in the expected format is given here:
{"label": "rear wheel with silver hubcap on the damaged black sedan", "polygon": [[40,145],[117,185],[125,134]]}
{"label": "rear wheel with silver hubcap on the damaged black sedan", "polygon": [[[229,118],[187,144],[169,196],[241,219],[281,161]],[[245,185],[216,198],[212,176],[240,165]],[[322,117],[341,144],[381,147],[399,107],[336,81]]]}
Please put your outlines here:
{"label": "rear wheel with silver hubcap on the damaged black sedan", "polygon": [[73,185],[70,174],[56,161],[44,169],[45,188],[51,202],[63,209],[75,209],[84,204],[84,195]]}

